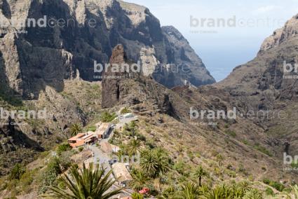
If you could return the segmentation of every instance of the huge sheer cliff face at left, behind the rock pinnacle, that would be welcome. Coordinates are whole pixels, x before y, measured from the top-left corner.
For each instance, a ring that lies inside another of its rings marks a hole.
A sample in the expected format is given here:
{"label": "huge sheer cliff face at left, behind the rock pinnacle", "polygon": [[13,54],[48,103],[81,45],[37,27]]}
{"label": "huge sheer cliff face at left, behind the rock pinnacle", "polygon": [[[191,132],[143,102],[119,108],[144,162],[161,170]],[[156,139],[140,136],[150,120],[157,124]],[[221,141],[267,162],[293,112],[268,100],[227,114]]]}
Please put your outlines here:
{"label": "huge sheer cliff face at left, behind the rock pinnacle", "polygon": [[[147,75],[158,64],[177,66],[189,57],[190,47],[182,46],[186,53],[171,47],[173,41],[144,6],[116,0],[4,0],[0,8],[4,19],[0,36],[0,70],[4,74],[1,86],[9,86],[10,92],[27,99],[38,97],[40,90],[36,86],[41,82],[61,83],[76,76],[99,81],[94,76],[102,73],[94,72],[94,62],[107,64],[118,43],[131,59],[140,61]],[[201,70],[201,60],[193,61],[192,76],[191,72],[178,73],[172,79],[160,73],[156,79],[168,87],[184,85],[185,80],[196,86],[214,83],[208,71]]]}

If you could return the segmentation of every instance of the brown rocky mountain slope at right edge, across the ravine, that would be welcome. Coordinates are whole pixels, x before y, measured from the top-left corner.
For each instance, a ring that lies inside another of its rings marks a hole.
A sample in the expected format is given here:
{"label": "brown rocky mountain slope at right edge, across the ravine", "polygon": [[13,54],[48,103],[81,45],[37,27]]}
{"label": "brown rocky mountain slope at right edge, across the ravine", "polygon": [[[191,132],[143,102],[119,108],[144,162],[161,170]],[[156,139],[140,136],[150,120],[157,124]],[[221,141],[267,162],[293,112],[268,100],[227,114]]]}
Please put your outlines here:
{"label": "brown rocky mountain slope at right edge, across the ravine", "polygon": [[289,143],[286,151],[293,155],[298,152],[298,90],[297,71],[294,71],[298,62],[297,28],[298,15],[295,15],[264,40],[255,59],[236,67],[223,81],[214,84],[245,102],[248,110],[260,111],[259,117],[252,121],[269,134],[285,139]]}

